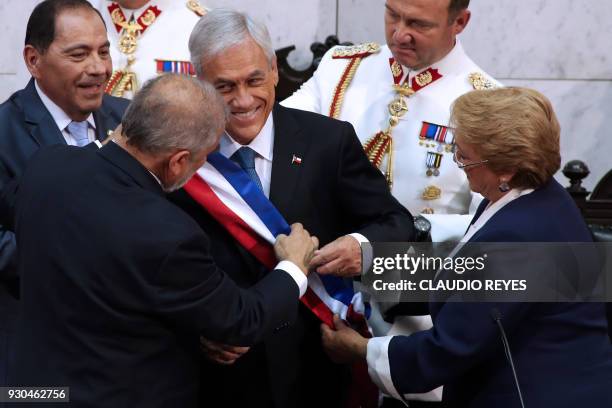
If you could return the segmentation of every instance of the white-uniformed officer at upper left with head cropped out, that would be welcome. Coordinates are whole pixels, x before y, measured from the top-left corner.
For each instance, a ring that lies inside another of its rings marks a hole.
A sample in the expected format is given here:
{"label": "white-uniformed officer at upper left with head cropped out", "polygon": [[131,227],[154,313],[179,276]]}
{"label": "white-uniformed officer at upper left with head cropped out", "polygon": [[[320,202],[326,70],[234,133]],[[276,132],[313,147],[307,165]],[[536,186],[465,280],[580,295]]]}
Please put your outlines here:
{"label": "white-uniformed officer at upper left with head cropped out", "polygon": [[187,43],[206,9],[197,0],[97,0],[108,30],[113,76],[106,93],[131,98],[166,72],[194,75]]}

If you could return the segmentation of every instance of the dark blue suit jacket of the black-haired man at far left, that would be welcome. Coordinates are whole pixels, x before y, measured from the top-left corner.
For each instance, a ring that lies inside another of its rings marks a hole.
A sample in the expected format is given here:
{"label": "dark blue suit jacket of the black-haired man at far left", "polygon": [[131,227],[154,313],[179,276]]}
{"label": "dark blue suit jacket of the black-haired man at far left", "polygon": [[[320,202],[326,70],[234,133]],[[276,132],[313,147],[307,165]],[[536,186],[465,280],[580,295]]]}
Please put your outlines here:
{"label": "dark blue suit jacket of the black-haired man at far left", "polygon": [[[93,113],[97,138],[121,122],[127,99],[104,96],[102,106]],[[43,146],[66,144],[61,130],[36,93],[34,80],[0,105],[0,192],[18,177],[26,162]],[[17,316],[19,281],[15,237],[0,224],[0,349],[10,355],[8,336]],[[0,384],[6,381],[7,359],[0,359]]]}

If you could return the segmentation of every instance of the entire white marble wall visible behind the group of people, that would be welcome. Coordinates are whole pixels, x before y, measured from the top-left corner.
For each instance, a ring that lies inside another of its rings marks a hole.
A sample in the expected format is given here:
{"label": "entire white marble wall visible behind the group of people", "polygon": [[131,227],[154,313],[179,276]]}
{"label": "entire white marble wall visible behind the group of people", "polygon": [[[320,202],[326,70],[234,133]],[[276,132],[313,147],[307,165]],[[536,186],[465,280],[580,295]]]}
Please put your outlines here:
{"label": "entire white marble wall visible behind the group of people", "polygon": [[[37,2],[0,0],[0,100],[27,82],[21,48]],[[245,10],[264,21],[276,48],[298,47],[291,55],[298,67],[309,63],[313,41],[336,31],[342,41],[384,42],[384,0],[202,2]],[[552,100],[562,125],[562,162],[585,160],[591,168],[586,186],[594,187],[612,169],[612,132],[607,129],[612,116],[612,3],[472,0],[470,8],[472,21],[461,35],[468,53],[505,84],[533,87]]]}

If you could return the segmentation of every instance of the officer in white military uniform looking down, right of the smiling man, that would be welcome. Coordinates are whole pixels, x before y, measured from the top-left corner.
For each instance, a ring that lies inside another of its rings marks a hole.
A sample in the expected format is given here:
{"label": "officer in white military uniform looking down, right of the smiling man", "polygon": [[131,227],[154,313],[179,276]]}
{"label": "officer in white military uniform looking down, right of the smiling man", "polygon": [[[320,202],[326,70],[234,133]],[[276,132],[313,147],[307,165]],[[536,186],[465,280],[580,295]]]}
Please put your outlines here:
{"label": "officer in white military uniform looking down, right of the smiling man", "polygon": [[[470,20],[468,6],[469,0],[387,0],[387,45],[331,49],[313,77],[282,102],[350,122],[393,195],[429,220],[434,242],[459,241],[482,199],[453,162],[448,128],[455,99],[497,85],[456,38]],[[400,316],[388,334],[431,324],[429,316]],[[412,396],[440,397],[441,389]]]}

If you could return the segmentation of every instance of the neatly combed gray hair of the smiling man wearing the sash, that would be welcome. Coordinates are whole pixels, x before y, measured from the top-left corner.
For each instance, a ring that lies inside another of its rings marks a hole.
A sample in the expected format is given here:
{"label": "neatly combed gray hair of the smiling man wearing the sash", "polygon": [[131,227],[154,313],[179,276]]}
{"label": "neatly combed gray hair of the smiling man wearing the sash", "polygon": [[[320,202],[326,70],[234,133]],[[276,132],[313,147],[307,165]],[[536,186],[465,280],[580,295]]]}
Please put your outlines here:
{"label": "neatly combed gray hair of the smiling man wearing the sash", "polygon": [[230,9],[213,9],[206,13],[193,28],[189,37],[191,63],[198,76],[202,76],[202,61],[247,40],[249,36],[266,54],[268,61],[276,56],[266,26],[245,13]]}

